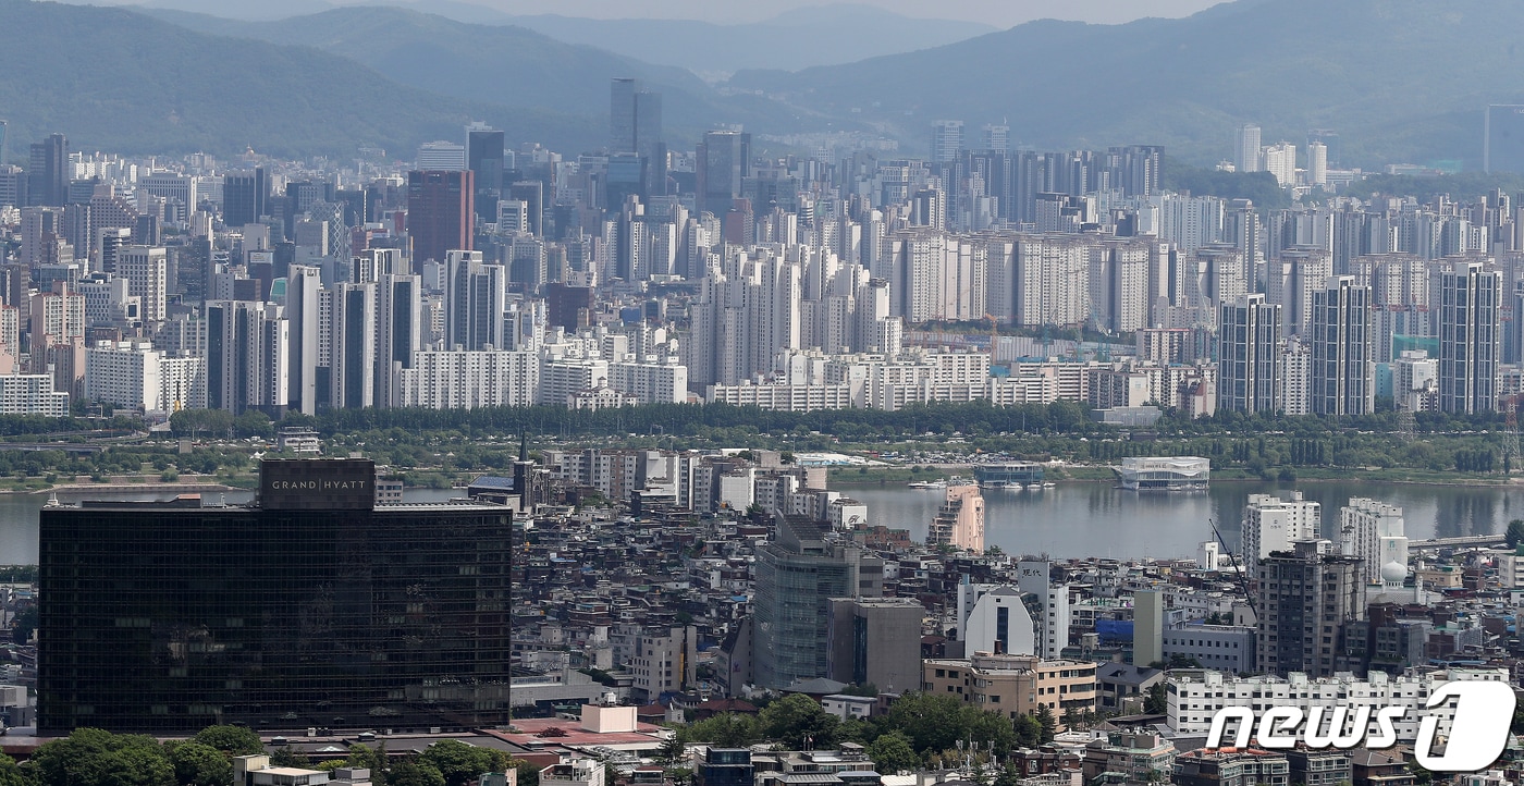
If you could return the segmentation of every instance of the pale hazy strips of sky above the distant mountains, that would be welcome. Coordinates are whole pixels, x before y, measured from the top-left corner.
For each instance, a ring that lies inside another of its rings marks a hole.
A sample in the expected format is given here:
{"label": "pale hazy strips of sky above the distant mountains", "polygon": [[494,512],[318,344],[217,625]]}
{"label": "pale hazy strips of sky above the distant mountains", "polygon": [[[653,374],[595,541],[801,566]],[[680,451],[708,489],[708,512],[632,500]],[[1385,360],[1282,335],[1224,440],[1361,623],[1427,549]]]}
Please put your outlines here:
{"label": "pale hazy strips of sky above the distant mountains", "polygon": [[[178,8],[232,18],[270,18],[315,12],[334,5],[366,5],[367,0],[67,0],[98,5]],[[375,3],[376,0],[369,0]],[[430,0],[383,0],[428,11]],[[450,0],[509,14],[561,14],[596,18],[692,18],[715,23],[757,21],[779,12],[826,5],[832,0]],[[981,21],[1010,27],[1035,18],[1117,23],[1138,17],[1186,17],[1222,0],[846,0],[872,5],[919,18]]]}

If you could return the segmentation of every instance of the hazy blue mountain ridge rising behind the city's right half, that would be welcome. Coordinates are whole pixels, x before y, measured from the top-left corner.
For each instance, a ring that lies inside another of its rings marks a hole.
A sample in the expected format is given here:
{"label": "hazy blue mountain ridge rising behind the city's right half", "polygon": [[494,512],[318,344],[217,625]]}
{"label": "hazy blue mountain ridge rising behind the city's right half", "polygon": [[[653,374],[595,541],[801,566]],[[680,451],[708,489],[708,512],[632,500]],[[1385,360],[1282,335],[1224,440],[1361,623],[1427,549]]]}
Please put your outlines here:
{"label": "hazy blue mountain ridge rising behind the city's right half", "polygon": [[1524,3],[1239,0],[1181,20],[1035,21],[922,52],[730,87],[856,117],[924,149],[936,119],[1007,122],[1039,148],[1164,145],[1228,158],[1233,129],[1265,143],[1340,133],[1343,163],[1480,165],[1487,104],[1524,101]]}

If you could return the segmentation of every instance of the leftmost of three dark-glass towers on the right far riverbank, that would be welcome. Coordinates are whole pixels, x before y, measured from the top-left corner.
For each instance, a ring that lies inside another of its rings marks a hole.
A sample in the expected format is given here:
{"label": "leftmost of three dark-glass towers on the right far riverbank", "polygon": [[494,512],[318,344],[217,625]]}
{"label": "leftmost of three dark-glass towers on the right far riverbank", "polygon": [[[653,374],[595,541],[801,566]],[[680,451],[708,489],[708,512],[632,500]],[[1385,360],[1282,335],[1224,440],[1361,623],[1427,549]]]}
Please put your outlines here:
{"label": "leftmost of three dark-glass towers on the right far riverbank", "polygon": [[1280,306],[1263,294],[1222,303],[1218,317],[1218,407],[1241,413],[1280,410]]}

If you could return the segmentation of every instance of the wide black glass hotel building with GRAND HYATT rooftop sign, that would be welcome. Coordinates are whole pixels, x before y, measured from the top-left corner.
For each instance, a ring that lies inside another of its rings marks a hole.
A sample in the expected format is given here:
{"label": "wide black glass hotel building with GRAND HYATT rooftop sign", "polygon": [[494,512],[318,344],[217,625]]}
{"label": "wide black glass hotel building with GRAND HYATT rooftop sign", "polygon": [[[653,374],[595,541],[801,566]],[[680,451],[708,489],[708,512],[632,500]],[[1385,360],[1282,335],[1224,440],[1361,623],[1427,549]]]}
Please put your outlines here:
{"label": "wide black glass hotel building with GRAND HYATT rooftop sign", "polygon": [[373,500],[280,460],[250,506],[43,509],[38,731],[506,724],[509,510]]}

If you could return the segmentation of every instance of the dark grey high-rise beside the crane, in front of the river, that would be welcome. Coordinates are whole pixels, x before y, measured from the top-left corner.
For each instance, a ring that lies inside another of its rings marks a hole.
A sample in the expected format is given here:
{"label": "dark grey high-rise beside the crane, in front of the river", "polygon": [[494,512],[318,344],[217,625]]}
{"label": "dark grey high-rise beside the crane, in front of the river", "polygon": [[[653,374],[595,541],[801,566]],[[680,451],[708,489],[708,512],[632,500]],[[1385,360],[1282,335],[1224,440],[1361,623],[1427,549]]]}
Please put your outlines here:
{"label": "dark grey high-rise beside the crane, in front of the river", "polygon": [[1259,667],[1312,678],[1347,670],[1344,626],[1366,618],[1362,561],[1334,553],[1329,541],[1301,541],[1262,559],[1256,579]]}

